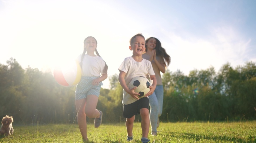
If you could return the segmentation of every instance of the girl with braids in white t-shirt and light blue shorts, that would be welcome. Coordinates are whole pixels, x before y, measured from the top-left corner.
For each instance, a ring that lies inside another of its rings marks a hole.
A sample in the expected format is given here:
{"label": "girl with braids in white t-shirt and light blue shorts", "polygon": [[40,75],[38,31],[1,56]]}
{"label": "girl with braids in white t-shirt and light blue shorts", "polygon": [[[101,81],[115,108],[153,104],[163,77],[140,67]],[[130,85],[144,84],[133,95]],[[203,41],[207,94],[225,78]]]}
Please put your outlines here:
{"label": "girl with braids in white t-shirt and light blue shorts", "polygon": [[96,106],[101,85],[103,85],[102,81],[108,77],[108,66],[96,49],[97,40],[94,37],[89,36],[85,38],[83,43],[83,53],[78,57],[82,68],[82,78],[76,85],[75,106],[78,114],[78,126],[83,140],[86,141],[88,140],[86,116],[88,118],[95,118],[95,128],[101,125],[102,112],[97,110]]}

